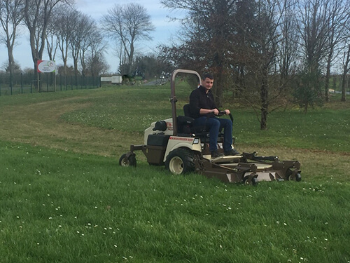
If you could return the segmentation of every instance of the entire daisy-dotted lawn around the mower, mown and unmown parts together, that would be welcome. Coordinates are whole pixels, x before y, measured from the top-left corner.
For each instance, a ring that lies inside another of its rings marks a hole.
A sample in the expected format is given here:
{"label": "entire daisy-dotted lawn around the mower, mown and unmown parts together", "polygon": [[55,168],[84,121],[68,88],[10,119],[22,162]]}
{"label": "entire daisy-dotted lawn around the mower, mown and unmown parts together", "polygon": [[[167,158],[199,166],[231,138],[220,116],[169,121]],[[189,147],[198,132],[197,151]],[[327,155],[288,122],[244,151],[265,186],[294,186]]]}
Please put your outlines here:
{"label": "entire daisy-dotted lawn around the mower, mown and unmown parts together", "polygon": [[[190,88],[179,85],[179,111]],[[169,86],[0,97],[0,262],[350,262],[350,104],[237,109],[239,151],[297,159],[302,182],[224,184],[118,166]]]}

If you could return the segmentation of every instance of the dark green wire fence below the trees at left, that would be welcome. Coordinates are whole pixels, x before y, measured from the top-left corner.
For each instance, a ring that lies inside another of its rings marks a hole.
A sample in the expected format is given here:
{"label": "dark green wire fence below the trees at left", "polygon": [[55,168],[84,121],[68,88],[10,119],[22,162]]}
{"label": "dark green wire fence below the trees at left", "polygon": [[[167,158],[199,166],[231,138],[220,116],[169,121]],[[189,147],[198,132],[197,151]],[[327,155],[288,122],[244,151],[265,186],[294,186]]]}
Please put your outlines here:
{"label": "dark green wire fence below the trees at left", "polygon": [[54,73],[39,74],[0,74],[0,96],[25,93],[55,92],[98,88],[99,76],[62,76]]}

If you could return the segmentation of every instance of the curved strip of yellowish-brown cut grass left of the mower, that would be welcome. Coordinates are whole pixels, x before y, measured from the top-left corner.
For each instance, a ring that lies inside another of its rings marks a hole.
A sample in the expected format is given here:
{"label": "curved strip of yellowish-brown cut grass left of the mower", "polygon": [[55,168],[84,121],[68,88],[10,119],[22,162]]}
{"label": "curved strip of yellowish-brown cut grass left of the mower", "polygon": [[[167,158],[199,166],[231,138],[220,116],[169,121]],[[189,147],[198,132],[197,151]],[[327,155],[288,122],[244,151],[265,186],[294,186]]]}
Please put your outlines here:
{"label": "curved strip of yellowish-brown cut grass left of the mower", "polygon": [[[60,118],[62,114],[89,106],[90,103],[78,103],[69,98],[26,106],[2,107],[0,138],[104,156],[120,155],[129,149],[129,139],[137,135],[66,123]],[[142,142],[140,135],[134,139],[136,141],[133,143]]]}

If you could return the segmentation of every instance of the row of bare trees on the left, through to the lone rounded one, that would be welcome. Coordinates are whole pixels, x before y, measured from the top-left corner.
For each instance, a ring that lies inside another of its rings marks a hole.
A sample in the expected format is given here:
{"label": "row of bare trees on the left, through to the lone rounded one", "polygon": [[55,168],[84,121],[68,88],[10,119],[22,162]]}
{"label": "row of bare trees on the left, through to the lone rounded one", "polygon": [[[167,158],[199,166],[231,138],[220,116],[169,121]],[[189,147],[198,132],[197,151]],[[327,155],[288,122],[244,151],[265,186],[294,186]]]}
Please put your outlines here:
{"label": "row of bare trees on the left, through to the lone rounded one", "polygon": [[[42,60],[45,52],[50,60],[62,59],[59,72],[64,75],[71,71],[76,77],[107,73],[109,65],[104,51],[108,39],[116,46],[119,73],[132,74],[135,58],[141,58],[135,55],[135,43],[151,40],[150,32],[155,29],[146,8],[139,4],[115,5],[101,21],[95,21],[76,10],[74,4],[74,0],[1,0],[0,41],[8,50],[6,72],[12,75],[20,69],[13,48],[26,29],[35,74],[37,61]],[[73,70],[67,65],[69,61],[73,61]]]}

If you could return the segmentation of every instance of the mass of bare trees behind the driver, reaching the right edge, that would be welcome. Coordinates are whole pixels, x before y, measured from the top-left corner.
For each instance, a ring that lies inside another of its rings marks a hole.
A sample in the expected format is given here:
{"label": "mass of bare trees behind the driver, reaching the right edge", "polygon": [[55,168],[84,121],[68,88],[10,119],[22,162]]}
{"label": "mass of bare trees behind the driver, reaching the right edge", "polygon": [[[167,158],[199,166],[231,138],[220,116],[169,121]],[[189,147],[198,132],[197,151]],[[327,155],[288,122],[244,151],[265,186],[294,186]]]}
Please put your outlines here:
{"label": "mass of bare trees behind the driver, reaching the right edge", "polygon": [[[216,100],[224,87],[257,113],[290,102],[304,107],[329,100],[330,70],[349,72],[349,0],[162,0],[187,11],[180,44],[162,46],[178,67],[214,73]],[[335,68],[337,66],[337,68]]]}

